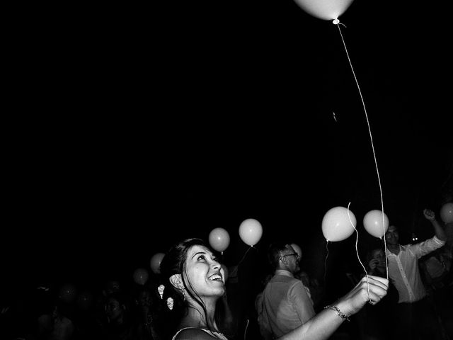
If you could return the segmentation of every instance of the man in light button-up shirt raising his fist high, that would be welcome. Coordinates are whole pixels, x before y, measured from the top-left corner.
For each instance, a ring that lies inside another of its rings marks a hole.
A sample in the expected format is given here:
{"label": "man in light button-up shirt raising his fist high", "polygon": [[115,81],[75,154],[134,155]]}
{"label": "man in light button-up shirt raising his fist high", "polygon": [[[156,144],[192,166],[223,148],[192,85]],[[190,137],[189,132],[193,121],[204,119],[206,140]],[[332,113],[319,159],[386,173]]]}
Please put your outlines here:
{"label": "man in light button-up shirt raising his fist high", "polygon": [[[434,227],[435,236],[417,244],[399,244],[398,229],[391,225],[385,234],[389,278],[398,290],[395,311],[399,339],[444,339],[435,306],[426,298],[427,293],[418,268],[418,260],[444,246],[447,235],[432,210],[423,215]],[[418,337],[420,336],[420,337]]]}

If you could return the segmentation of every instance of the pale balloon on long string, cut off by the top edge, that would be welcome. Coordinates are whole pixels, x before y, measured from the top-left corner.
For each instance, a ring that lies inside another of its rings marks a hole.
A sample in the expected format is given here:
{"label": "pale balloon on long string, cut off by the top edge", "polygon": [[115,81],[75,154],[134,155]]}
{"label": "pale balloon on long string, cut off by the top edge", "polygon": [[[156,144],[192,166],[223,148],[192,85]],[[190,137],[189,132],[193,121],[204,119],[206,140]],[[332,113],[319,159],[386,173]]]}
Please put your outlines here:
{"label": "pale balloon on long string, cut off by the top edge", "polygon": [[352,0],[294,0],[311,16],[323,20],[333,20],[345,13]]}

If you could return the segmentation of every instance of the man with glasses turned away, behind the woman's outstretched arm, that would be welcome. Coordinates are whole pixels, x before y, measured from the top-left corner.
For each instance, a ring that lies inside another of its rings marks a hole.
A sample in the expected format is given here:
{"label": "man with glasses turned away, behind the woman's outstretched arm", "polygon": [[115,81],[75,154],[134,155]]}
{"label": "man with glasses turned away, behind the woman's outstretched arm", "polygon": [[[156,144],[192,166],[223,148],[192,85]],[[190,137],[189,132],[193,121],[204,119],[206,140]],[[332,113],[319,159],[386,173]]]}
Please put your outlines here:
{"label": "man with glasses turned away, behind the woman's outstretched arm", "polygon": [[299,254],[290,244],[273,243],[268,260],[274,276],[269,280],[260,301],[258,323],[264,339],[276,339],[301,326],[315,312],[301,280],[294,278],[299,270]]}

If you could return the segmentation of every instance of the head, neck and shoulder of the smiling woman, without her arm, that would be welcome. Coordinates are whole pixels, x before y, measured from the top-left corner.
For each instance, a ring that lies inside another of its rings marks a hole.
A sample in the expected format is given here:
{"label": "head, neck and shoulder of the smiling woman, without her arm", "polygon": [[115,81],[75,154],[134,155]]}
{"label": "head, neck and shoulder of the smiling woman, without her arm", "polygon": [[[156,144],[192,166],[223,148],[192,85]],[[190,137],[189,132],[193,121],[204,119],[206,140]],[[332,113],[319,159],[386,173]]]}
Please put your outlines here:
{"label": "head, neck and shoulder of the smiling woman, without her arm", "polygon": [[161,274],[178,300],[173,339],[226,339],[216,304],[224,296],[224,269],[202,239],[185,239],[168,250]]}

